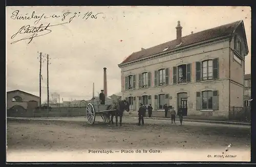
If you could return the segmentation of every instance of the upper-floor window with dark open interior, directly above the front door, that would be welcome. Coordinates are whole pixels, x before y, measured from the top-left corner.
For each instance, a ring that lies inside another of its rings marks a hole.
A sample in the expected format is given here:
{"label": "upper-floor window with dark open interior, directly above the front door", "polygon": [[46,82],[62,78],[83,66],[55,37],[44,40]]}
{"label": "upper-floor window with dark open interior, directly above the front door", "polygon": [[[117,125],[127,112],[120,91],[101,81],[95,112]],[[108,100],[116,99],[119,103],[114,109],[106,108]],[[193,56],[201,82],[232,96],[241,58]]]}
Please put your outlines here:
{"label": "upper-floor window with dark open interior, directly above the front door", "polygon": [[178,67],[173,67],[173,83],[186,83],[191,81],[191,65],[182,64]]}

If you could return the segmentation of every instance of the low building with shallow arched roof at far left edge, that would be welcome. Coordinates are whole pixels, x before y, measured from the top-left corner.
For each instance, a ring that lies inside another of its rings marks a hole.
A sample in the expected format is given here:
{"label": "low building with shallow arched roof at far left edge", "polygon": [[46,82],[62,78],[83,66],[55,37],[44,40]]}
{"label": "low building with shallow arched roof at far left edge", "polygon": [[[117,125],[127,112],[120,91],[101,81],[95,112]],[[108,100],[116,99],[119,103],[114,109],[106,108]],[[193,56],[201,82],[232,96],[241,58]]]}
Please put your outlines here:
{"label": "low building with shallow arched roof at far left edge", "polygon": [[39,106],[40,98],[34,94],[22,91],[12,90],[7,91],[7,109],[14,106],[21,106],[24,109],[35,109]]}

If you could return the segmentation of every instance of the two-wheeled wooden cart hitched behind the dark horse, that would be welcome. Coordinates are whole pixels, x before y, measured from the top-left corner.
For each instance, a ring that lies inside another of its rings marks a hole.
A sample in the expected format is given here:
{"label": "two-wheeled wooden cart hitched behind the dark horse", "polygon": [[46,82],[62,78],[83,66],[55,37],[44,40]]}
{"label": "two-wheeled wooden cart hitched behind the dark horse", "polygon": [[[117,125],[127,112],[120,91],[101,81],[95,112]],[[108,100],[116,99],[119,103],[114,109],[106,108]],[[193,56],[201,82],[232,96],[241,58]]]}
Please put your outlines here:
{"label": "two-wheeled wooden cart hitched behind the dark horse", "polygon": [[[112,103],[108,102],[108,103]],[[104,123],[109,122],[110,112],[114,111],[115,109],[108,109],[110,104],[99,104],[98,102],[88,103],[86,107],[85,116],[87,118],[88,124],[94,124],[96,115],[100,115]]]}

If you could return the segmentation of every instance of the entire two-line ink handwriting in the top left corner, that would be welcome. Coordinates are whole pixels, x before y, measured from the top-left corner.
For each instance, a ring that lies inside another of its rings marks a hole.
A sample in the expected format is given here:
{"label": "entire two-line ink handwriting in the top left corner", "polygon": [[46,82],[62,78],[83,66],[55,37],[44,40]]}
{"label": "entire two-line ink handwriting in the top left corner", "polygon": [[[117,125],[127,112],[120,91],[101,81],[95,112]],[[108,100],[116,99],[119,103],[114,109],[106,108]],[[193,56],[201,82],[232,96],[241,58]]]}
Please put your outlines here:
{"label": "entire two-line ink handwriting in the top left corner", "polygon": [[14,33],[11,36],[11,39],[16,38],[16,36],[19,36],[18,34],[29,34],[29,36],[20,38],[18,40],[15,40],[13,42],[11,42],[11,44],[14,44],[16,42],[22,41],[22,40],[26,40],[29,39],[28,44],[33,40],[33,38],[35,37],[39,37],[39,36],[44,36],[47,35],[49,33],[52,32],[52,30],[50,30],[50,27],[54,27],[54,26],[59,26],[59,25],[64,25],[67,23],[70,23],[75,17],[82,17],[82,19],[88,19],[88,18],[93,18],[93,19],[97,19],[97,15],[98,14],[102,14],[102,13],[97,13],[97,14],[93,14],[92,12],[87,12],[85,14],[81,14],[80,12],[75,12],[75,13],[71,13],[71,12],[66,12],[63,13],[63,15],[50,15],[47,16],[45,13],[41,14],[41,15],[36,15],[35,11],[33,11],[31,13],[31,15],[28,15],[28,13],[25,14],[25,16],[19,15],[19,10],[16,10],[12,13],[11,18],[15,19],[15,20],[30,20],[30,19],[36,19],[34,21],[34,24],[37,25],[37,23],[42,19],[47,19],[47,18],[61,18],[61,21],[65,21],[66,22],[62,22],[62,23],[58,23],[56,25],[52,25],[51,23],[48,23],[47,26],[44,26],[43,24],[41,24],[40,26],[31,26],[31,25],[26,25],[26,26],[22,26],[21,28],[19,28],[19,30]]}

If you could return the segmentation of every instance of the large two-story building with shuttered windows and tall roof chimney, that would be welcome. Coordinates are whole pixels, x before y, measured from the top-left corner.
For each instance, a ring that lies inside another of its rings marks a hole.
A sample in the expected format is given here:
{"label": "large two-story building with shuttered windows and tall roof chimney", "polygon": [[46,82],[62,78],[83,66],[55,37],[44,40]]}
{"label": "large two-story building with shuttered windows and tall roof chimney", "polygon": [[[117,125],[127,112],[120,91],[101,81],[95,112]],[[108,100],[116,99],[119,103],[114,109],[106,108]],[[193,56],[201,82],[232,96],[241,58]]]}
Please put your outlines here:
{"label": "large two-story building with shuttered windows and tall roof chimney", "polygon": [[244,60],[248,46],[242,20],[141,49],[118,64],[122,97],[139,103],[182,106],[187,115],[228,117],[244,103]]}

